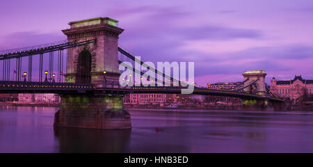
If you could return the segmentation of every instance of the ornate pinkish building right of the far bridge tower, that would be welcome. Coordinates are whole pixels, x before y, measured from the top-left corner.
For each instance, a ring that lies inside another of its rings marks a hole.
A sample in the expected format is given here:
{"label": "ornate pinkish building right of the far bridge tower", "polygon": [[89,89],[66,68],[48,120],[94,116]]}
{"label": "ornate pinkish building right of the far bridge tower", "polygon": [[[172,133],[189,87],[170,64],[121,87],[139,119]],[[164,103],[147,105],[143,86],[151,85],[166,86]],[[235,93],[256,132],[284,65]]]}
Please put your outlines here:
{"label": "ornate pinkish building right of the far bridge tower", "polygon": [[271,92],[281,98],[289,100],[298,100],[305,93],[313,94],[313,80],[303,79],[295,76],[294,79],[278,81],[273,77],[271,79]]}

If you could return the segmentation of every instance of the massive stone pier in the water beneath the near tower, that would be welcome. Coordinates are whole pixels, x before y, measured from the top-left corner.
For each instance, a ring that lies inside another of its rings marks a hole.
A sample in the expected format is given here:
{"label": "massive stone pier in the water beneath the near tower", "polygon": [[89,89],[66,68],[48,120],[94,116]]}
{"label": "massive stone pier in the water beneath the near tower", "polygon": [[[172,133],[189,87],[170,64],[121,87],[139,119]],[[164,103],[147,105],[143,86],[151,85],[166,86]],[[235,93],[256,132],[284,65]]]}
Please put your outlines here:
{"label": "massive stone pier in the water beneath the near tower", "polygon": [[131,117],[123,110],[122,95],[61,95],[54,126],[130,129]]}

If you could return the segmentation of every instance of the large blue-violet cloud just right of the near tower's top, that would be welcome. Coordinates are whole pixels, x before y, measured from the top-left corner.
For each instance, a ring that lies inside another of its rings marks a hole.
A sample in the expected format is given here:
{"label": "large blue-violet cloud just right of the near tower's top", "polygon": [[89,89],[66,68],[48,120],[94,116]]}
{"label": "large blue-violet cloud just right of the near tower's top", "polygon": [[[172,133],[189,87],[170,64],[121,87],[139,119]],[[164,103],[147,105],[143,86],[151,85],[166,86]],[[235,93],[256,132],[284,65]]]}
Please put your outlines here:
{"label": "large blue-violet cloud just right of the near tower's top", "polygon": [[124,22],[121,28],[125,31],[120,35],[120,45],[148,61],[186,61],[193,59],[193,56],[197,59],[198,55],[211,59],[201,51],[182,49],[186,41],[221,42],[235,39],[259,40],[263,37],[262,31],[255,29],[207,23],[190,24],[195,15],[179,7],[141,6],[125,10],[121,7],[115,13],[119,13],[120,22]]}

